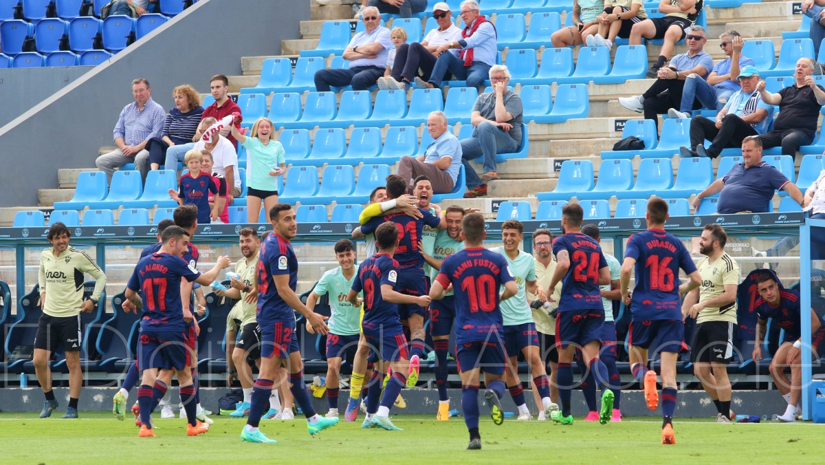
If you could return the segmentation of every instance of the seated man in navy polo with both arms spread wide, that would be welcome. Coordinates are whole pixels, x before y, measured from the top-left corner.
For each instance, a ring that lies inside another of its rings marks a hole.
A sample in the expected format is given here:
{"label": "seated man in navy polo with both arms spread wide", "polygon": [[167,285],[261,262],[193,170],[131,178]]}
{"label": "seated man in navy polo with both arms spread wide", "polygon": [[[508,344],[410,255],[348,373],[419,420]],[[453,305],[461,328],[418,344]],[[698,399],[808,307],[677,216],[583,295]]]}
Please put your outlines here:
{"label": "seated man in navy polo with both arms spread wide", "polygon": [[719,194],[716,211],[723,215],[732,213],[764,213],[771,205],[775,191],[788,192],[799,204],[802,192],[791,183],[785,174],[767,162],[762,161],[762,143],[757,135],[746,137],[742,141],[742,160],[733,165],[728,174],[710,184],[693,199],[694,209],[699,208],[703,198]]}

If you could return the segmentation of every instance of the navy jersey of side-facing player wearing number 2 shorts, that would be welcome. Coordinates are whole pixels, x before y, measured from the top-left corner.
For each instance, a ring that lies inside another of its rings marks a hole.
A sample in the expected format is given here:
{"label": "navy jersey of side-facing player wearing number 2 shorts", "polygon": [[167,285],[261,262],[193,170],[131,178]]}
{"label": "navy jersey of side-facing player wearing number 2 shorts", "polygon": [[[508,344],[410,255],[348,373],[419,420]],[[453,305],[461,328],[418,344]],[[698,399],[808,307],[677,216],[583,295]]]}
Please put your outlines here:
{"label": "navy jersey of side-facing player wearing number 2 shorts", "polygon": [[272,233],[261,244],[258,259],[258,323],[295,320],[295,311],[281,298],[272,279],[279,274],[290,275],[290,289],[295,291],[298,284],[298,257],[288,240]]}

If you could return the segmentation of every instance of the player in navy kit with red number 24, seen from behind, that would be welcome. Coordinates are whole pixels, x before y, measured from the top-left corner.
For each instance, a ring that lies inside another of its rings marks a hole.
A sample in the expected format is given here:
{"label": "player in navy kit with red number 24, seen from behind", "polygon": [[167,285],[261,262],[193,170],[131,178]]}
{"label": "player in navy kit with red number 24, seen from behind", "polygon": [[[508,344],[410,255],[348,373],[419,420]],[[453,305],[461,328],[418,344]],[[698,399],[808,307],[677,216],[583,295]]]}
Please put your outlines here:
{"label": "player in navy kit with red number 24, seen from behind", "polygon": [[562,410],[550,412],[550,419],[562,425],[573,425],[573,415],[570,414],[571,363],[576,349],[581,349],[585,365],[595,371],[596,382],[602,386],[599,421],[605,425],[613,413],[613,392],[608,387],[607,367],[599,359],[601,325],[605,321],[599,286],[610,284],[610,268],[599,243],[582,234],[582,216],[584,212],[579,204],[565,205],[562,208],[564,234],[553,242],[557,264],[550,288],[556,287],[563,278],[559,316],[556,317],[556,344],[561,349],[558,379]]}

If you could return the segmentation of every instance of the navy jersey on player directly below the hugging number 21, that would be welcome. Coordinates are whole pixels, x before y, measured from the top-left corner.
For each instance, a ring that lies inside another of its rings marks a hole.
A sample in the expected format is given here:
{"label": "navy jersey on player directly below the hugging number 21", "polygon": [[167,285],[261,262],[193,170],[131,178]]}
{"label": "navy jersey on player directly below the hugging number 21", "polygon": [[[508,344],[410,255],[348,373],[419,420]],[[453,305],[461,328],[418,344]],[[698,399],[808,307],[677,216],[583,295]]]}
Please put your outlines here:
{"label": "navy jersey on player directly below the hugging number 21", "polygon": [[358,267],[358,274],[352,282],[352,290],[364,292],[364,321],[361,326],[365,331],[393,331],[401,329],[401,317],[398,316],[398,304],[384,301],[381,286],[389,284],[395,289],[398,282],[398,261],[387,254],[375,254],[365,259]]}

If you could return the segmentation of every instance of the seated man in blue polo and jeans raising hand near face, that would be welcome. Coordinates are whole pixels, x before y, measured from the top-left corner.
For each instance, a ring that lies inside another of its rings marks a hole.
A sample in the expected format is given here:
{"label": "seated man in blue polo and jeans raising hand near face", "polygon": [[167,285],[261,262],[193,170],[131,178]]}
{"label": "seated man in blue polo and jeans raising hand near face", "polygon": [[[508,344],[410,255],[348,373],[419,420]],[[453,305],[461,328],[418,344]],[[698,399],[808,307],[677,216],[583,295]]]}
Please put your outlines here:
{"label": "seated man in blue polo and jeans raising hand near face", "polygon": [[690,118],[697,101],[702,108],[719,111],[728,102],[728,97],[741,89],[738,83],[739,70],[754,64],[752,59],[742,56],[745,41],[737,31],[723,32],[719,40],[719,47],[728,58],[719,61],[705,79],[697,74],[689,74],[685,79],[685,88],[681,91],[679,110],[671,108],[667,110],[667,116]]}

